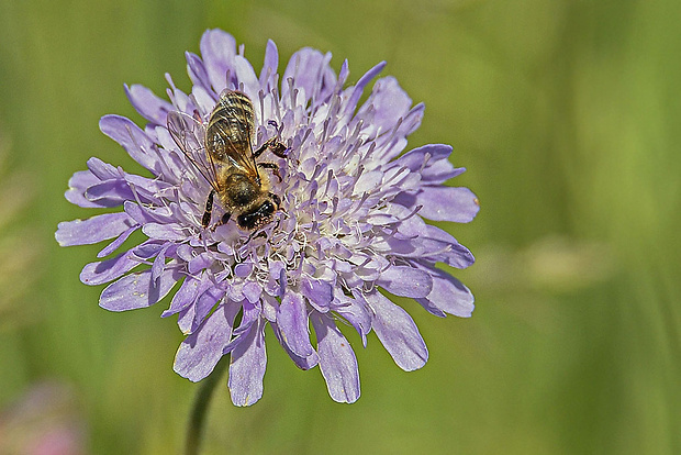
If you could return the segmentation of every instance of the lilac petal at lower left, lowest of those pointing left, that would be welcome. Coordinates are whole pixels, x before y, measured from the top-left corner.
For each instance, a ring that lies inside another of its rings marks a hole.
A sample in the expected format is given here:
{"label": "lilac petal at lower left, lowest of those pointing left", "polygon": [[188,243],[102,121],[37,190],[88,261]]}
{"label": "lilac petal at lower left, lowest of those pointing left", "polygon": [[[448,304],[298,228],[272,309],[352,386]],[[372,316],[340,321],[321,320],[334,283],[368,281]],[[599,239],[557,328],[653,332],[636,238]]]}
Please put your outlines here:
{"label": "lilac petal at lower left, lowest of those pointing left", "polygon": [[109,311],[126,311],[150,307],[170,292],[178,280],[172,269],[166,269],[157,280],[152,280],[152,270],[136,271],[107,286],[99,299],[99,306]]}

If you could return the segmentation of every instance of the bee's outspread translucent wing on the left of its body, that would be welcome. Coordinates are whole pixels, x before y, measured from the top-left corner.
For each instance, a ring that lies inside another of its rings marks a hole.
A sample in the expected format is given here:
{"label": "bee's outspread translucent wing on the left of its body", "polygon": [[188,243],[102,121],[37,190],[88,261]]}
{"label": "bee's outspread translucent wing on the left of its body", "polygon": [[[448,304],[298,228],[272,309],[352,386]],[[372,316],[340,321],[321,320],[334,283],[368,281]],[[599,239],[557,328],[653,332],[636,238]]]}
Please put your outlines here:
{"label": "bee's outspread translucent wing on the left of its body", "polygon": [[205,153],[205,127],[185,112],[168,112],[168,132],[187,159],[219,190],[215,163]]}

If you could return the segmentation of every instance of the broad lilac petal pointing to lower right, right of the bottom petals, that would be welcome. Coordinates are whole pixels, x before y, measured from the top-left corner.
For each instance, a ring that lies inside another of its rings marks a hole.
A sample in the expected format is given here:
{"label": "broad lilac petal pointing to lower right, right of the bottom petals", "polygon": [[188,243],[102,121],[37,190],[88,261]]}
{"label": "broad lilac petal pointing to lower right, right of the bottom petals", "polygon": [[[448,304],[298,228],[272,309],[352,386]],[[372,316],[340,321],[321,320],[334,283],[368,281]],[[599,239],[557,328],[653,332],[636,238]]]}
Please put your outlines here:
{"label": "broad lilac petal pointing to lower right, right of the bottom petals", "polygon": [[400,368],[412,371],[428,360],[428,349],[414,320],[380,292],[365,296],[373,310],[371,328]]}

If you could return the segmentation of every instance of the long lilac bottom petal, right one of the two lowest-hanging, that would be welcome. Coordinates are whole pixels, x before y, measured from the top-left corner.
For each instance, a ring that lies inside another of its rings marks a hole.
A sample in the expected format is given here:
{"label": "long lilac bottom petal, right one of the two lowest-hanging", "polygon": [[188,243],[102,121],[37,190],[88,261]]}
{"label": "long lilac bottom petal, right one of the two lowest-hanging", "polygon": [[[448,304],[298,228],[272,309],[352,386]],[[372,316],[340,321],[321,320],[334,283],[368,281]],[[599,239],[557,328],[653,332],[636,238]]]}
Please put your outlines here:
{"label": "long lilac bottom petal, right one of the two lowest-hanging", "polygon": [[350,344],[333,319],[316,312],[311,317],[317,339],[320,369],[334,401],[353,403],[359,398],[359,369]]}

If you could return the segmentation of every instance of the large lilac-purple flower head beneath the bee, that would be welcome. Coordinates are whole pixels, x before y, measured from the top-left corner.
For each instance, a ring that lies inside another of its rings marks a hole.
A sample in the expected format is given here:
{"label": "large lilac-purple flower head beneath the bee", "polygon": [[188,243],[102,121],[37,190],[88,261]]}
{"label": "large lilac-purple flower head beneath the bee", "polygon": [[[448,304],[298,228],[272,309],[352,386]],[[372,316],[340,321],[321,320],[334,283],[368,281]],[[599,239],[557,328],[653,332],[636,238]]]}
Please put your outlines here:
{"label": "large lilac-purple flower head beneath the bee", "polygon": [[[105,115],[100,127],[150,177],[90,158],[88,170],[70,179],[66,199],[123,211],[63,222],[56,238],[63,246],[111,240],[98,254],[102,260],[80,274],[87,285],[111,282],[100,297],[104,309],[149,307],[176,289],[163,317],[177,314],[187,334],[175,359],[179,375],[199,381],[231,353],[232,401],[253,404],[263,395],[269,324],[295,365],[320,365],[332,399],[354,402],[357,360],[337,323],[355,328],[365,346],[373,330],[399,367],[421,368],[426,345],[412,318],[386,293],[413,298],[437,317],[469,317],[472,295],[435,265],[465,268],[473,256],[424,219],[466,223],[478,201],[467,188],[443,186],[465,170],[448,162],[449,145],[402,153],[424,107],[412,107],[393,77],[378,79],[358,106],[383,63],[347,85],[347,62],[336,75],[331,54],[303,48],[279,76],[270,41],[258,76],[243,51],[227,33],[210,30],[201,38],[201,57],[187,54],[191,93],[169,76],[170,102],[141,86],[125,88],[147,124],[141,129]],[[234,219],[214,222],[225,212],[217,199],[211,226],[202,226],[210,184],[167,127],[171,111],[205,122],[225,88],[253,101],[254,148],[272,137],[288,147],[286,158],[264,155],[279,167],[281,181],[272,178],[270,190],[281,207],[255,232],[241,230]],[[147,237],[143,243],[108,257],[137,230]]]}

